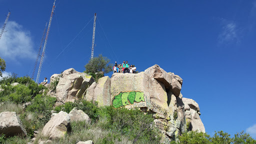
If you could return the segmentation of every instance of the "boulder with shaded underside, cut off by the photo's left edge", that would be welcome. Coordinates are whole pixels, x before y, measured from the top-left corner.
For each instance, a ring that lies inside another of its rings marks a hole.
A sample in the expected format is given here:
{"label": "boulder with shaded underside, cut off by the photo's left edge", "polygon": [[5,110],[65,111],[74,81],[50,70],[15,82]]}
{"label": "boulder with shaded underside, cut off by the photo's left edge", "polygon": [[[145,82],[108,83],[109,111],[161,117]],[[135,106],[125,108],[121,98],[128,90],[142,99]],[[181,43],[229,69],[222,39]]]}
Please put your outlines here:
{"label": "boulder with shaded underside, cut off by the photo's left edge", "polygon": [[6,136],[26,135],[26,130],[16,112],[5,111],[0,113],[0,134]]}

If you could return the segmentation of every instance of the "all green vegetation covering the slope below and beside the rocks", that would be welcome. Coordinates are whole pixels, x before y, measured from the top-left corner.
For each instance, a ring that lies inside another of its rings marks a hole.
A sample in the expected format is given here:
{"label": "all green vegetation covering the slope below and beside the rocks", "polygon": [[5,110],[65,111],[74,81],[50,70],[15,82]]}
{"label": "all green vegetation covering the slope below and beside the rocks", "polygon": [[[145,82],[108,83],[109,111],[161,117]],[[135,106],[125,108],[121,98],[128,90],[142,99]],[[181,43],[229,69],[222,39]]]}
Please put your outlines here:
{"label": "all green vegetation covering the slope below and beside the rocks", "polygon": [[[20,84],[11,86],[13,82]],[[50,119],[51,110],[69,112],[73,107],[83,110],[92,122],[71,122],[71,132],[61,139],[52,140],[52,143],[77,143],[86,140],[94,143],[160,143],[161,135],[153,128],[152,115],[140,110],[97,107],[96,102],[84,99],[54,107],[56,98],[46,95],[43,90],[47,91],[47,88],[37,85],[28,76],[17,77],[12,74],[3,77],[0,85],[3,89],[0,91],[0,112],[15,111],[27,131],[26,137],[0,135],[0,143],[27,143],[33,137],[34,130],[40,131]],[[22,104],[28,101],[31,103],[23,108]],[[36,142],[44,138],[39,132]],[[178,138],[178,141],[171,143],[256,143],[255,139],[243,131],[236,133],[234,137],[223,131],[215,132],[212,137],[207,133],[189,131]]]}

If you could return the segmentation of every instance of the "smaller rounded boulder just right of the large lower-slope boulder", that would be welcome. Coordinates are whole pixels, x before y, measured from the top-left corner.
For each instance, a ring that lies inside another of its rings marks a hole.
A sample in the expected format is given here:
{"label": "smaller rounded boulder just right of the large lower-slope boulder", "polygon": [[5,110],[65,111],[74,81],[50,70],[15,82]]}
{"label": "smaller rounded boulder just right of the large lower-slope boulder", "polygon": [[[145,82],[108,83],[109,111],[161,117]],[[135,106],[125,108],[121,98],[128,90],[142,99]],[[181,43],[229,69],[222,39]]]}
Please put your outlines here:
{"label": "smaller rounded boulder just right of the large lower-slope boulder", "polygon": [[76,107],[74,107],[69,113],[70,121],[85,121],[86,123],[90,123],[89,116],[84,113],[82,110],[77,110]]}

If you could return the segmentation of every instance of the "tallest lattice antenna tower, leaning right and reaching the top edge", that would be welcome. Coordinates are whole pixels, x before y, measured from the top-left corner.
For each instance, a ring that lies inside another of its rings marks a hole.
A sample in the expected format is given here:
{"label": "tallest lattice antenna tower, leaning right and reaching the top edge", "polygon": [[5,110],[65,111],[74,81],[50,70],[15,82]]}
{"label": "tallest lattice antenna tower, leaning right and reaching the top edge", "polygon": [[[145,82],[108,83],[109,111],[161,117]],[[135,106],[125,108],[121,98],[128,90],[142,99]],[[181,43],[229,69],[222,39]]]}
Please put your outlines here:
{"label": "tallest lattice antenna tower, leaning right and reaching the top edge", "polygon": [[54,11],[54,8],[55,8],[55,1],[56,0],[54,0],[53,6],[52,6],[52,9],[51,9],[51,13],[50,13],[50,20],[49,20],[49,24],[48,24],[48,29],[47,29],[47,32],[46,32],[45,41],[44,41],[44,45],[43,45],[43,49],[42,49],[41,60],[40,60],[40,64],[39,64],[39,68],[38,68],[38,72],[37,72],[37,76],[36,76],[36,80],[35,80],[36,83],[38,83],[40,72],[41,72],[43,56],[44,56],[45,47],[46,47],[46,43],[47,43],[47,39],[48,39],[48,34],[49,34],[49,31],[50,31],[50,23],[51,23],[53,11]]}

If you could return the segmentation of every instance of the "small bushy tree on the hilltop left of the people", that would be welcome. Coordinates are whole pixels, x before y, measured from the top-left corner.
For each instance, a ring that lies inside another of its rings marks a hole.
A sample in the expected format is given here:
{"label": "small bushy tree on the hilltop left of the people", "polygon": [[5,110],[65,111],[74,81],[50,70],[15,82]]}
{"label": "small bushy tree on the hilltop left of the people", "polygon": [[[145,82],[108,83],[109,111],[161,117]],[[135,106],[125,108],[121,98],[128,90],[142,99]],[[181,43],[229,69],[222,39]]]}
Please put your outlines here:
{"label": "small bushy tree on the hilltop left of the people", "polygon": [[112,71],[113,64],[109,64],[110,59],[102,54],[99,54],[97,57],[93,57],[90,59],[89,62],[84,65],[85,73],[88,73],[95,78],[95,80],[99,79],[100,77],[104,76],[104,73],[108,73]]}

